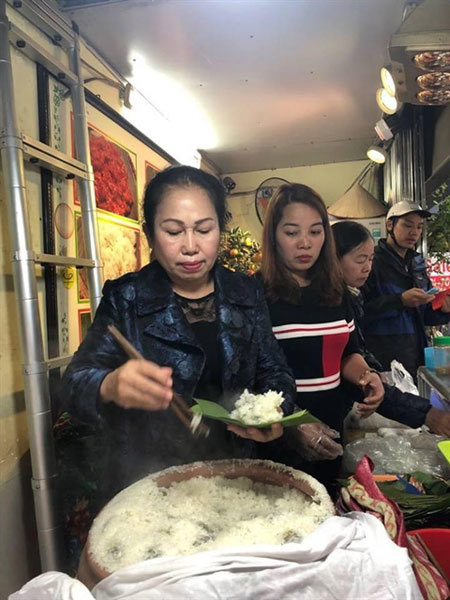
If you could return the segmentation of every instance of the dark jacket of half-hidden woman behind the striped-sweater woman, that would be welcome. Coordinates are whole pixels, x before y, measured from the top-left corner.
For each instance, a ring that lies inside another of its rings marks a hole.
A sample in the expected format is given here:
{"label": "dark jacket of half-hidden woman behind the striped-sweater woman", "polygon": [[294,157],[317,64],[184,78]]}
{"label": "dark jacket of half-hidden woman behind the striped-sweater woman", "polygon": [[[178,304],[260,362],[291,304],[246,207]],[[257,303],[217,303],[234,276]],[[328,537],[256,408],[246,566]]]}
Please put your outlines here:
{"label": "dark jacket of half-hidden woman behind the striped-sweater woman", "polygon": [[[367,349],[364,340],[364,335],[361,329],[361,323],[364,318],[364,300],[361,293],[351,288],[351,299],[353,311],[355,313],[355,328],[358,334],[359,346],[367,364],[377,371],[382,371],[383,368],[375,356]],[[348,386],[350,387],[350,386]],[[353,387],[353,392],[356,394],[356,388]],[[347,390],[349,391],[349,389]],[[362,394],[361,394],[362,395]],[[357,402],[361,399],[353,396]],[[425,418],[431,408],[430,402],[422,396],[415,396],[400,391],[392,385],[384,385],[384,400],[377,409],[377,412],[383,417],[394,419],[404,423],[409,427],[421,427],[425,423]]]}

